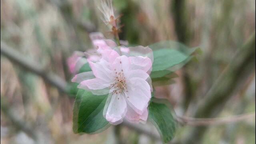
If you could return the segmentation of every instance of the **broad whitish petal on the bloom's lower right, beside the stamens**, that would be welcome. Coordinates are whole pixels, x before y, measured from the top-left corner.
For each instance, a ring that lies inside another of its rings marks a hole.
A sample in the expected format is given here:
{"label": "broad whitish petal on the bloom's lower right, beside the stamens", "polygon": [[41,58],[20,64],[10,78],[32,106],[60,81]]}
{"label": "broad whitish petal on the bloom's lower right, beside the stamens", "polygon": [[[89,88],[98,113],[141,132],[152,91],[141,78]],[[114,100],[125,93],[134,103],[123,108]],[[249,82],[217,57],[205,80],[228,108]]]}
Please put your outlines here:
{"label": "broad whitish petal on the bloom's lower right, beside the stamens", "polygon": [[126,101],[132,109],[143,114],[151,98],[150,86],[142,78],[131,78],[127,81]]}

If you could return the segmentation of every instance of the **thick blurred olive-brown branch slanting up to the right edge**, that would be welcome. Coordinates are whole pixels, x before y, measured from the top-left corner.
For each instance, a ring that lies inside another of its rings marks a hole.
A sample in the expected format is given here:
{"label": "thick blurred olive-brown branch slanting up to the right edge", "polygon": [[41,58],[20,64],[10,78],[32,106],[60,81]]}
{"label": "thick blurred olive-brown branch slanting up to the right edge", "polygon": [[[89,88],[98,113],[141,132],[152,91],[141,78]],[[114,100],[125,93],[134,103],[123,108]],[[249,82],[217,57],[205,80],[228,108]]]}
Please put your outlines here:
{"label": "thick blurred olive-brown branch slanting up to the right edge", "polygon": [[[255,72],[255,32],[238,49],[231,63],[196,108],[194,117],[207,118],[219,114],[234,91],[240,88],[253,72]],[[184,143],[200,143],[206,130],[205,126],[193,128]]]}

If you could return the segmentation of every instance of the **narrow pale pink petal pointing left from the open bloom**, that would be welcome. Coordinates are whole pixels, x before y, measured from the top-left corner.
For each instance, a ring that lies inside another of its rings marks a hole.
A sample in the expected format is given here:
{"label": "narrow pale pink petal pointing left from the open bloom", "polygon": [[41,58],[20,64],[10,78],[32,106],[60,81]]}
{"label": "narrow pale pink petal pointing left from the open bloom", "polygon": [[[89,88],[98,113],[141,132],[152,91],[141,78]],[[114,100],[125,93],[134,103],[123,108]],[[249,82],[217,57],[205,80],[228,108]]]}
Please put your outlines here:
{"label": "narrow pale pink petal pointing left from the open bloom", "polygon": [[106,88],[110,85],[110,83],[101,80],[99,78],[93,78],[90,80],[84,80],[82,81],[77,87],[82,88],[84,90],[101,90],[103,88]]}

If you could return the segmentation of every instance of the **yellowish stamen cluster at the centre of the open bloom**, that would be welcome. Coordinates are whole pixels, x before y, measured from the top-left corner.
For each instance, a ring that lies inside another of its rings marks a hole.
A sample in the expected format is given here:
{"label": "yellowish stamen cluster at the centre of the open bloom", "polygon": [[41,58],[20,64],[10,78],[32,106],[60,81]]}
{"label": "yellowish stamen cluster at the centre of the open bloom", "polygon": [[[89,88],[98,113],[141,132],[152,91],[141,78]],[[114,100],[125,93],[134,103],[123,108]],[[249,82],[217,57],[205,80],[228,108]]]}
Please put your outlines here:
{"label": "yellowish stamen cluster at the centre of the open bloom", "polygon": [[[115,69],[115,71],[116,71],[116,69]],[[116,77],[115,77],[114,83],[110,84],[110,88],[114,88],[112,94],[119,94],[118,99],[119,99],[119,96],[121,93],[124,93],[126,95],[125,92],[128,92],[128,91],[126,88],[126,78],[124,76],[123,70],[121,70],[121,72],[116,72]],[[127,96],[127,98],[129,98],[129,97]]]}

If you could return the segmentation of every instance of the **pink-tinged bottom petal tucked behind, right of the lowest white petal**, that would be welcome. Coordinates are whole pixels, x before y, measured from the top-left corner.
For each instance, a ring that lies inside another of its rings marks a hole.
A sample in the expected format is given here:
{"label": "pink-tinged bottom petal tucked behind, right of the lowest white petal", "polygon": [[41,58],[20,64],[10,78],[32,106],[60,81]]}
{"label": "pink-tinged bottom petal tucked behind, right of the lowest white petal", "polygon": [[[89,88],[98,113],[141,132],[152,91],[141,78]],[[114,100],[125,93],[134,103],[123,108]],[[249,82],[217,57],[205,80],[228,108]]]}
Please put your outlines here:
{"label": "pink-tinged bottom petal tucked behind, right of the lowest white petal", "polygon": [[129,105],[127,105],[127,112],[125,118],[130,122],[146,122],[148,118],[148,109],[146,108],[144,112],[140,115],[136,113]]}

